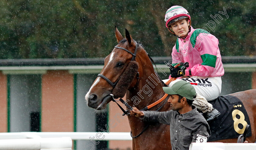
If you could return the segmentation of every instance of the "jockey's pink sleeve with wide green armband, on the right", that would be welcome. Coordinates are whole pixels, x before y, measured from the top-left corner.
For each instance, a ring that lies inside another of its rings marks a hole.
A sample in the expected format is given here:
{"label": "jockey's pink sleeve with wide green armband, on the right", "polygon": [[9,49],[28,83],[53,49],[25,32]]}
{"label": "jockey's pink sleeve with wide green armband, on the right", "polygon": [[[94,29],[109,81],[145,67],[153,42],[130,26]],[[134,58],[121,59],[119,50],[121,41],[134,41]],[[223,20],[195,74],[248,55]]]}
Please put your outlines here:
{"label": "jockey's pink sleeve with wide green armband, on the right", "polygon": [[[200,55],[201,55],[201,59],[203,60],[204,65],[202,64],[197,64],[194,65],[190,70],[191,70],[191,75],[192,76],[200,76],[200,77],[207,77],[207,76],[211,76],[214,69],[215,69],[215,65],[216,65],[216,59],[214,59],[215,57],[217,58],[217,54],[219,51],[219,47],[218,47],[219,41],[218,39],[213,36],[212,34],[208,34],[207,36],[204,36],[202,33],[200,33],[197,36],[197,43],[195,45],[195,47],[197,47]],[[209,56],[209,59],[204,60],[204,56]],[[213,58],[213,59],[211,59]],[[209,61],[210,60],[210,61]],[[208,65],[211,64],[211,65]],[[189,70],[185,70],[185,75],[189,76]]]}

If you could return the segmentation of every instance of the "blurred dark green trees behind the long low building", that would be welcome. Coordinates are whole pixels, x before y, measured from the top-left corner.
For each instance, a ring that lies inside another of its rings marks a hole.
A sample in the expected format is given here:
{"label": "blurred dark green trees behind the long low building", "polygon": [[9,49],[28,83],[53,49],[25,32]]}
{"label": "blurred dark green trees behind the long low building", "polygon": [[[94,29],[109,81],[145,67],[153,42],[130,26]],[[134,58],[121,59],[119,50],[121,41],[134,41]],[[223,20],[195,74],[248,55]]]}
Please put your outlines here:
{"label": "blurred dark green trees behind the long low building", "polygon": [[[256,0],[2,0],[0,59],[105,57],[117,44],[115,25],[123,36],[126,28],[151,56],[171,56],[176,37],[165,27],[164,16],[172,5],[188,10],[193,28],[206,27],[219,39],[222,56],[255,55],[255,4]],[[224,9],[228,18],[220,13]],[[215,32],[207,26],[209,21],[215,23]]]}

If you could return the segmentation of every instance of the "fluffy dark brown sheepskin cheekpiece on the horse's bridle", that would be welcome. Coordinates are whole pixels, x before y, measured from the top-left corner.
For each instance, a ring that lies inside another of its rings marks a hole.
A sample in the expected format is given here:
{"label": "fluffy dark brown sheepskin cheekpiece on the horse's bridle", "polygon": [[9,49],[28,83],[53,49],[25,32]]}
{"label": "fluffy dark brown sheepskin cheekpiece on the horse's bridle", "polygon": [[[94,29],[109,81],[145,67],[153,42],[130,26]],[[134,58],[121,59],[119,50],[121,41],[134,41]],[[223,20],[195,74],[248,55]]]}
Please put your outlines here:
{"label": "fluffy dark brown sheepskin cheekpiece on the horse's bridle", "polygon": [[135,78],[137,72],[138,72],[139,65],[136,61],[131,61],[125,71],[123,72],[123,75],[121,75],[118,83],[116,84],[116,87],[113,89],[112,94],[114,95],[114,98],[123,98],[126,91],[130,87],[133,79]]}

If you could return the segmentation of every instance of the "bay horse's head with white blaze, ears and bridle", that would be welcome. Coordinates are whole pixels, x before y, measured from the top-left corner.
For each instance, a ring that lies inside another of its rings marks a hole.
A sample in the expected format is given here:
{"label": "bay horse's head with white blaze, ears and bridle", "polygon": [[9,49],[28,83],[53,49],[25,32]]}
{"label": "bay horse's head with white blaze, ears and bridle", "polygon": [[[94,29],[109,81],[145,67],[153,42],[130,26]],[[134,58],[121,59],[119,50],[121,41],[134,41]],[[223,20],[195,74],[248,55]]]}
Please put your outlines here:
{"label": "bay horse's head with white blaze, ears and bridle", "polygon": [[114,97],[123,97],[126,90],[137,83],[138,63],[135,61],[137,51],[143,49],[132,39],[126,30],[126,38],[116,28],[118,45],[105,58],[104,67],[90,90],[85,96],[87,105],[91,108],[105,109]]}

